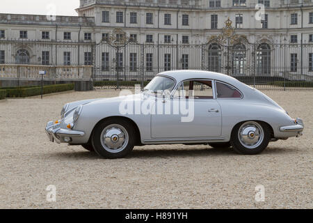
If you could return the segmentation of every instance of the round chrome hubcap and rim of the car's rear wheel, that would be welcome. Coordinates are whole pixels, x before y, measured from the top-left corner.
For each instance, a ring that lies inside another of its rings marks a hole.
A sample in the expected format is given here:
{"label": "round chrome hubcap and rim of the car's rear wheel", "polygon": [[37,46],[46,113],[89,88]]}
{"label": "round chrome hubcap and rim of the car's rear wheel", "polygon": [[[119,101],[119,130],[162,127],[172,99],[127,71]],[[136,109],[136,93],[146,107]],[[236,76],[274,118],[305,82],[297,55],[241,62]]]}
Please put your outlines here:
{"label": "round chrome hubcap and rim of the car's rear wheel", "polygon": [[246,148],[257,148],[262,144],[264,131],[259,123],[250,121],[241,125],[238,137],[240,143]]}

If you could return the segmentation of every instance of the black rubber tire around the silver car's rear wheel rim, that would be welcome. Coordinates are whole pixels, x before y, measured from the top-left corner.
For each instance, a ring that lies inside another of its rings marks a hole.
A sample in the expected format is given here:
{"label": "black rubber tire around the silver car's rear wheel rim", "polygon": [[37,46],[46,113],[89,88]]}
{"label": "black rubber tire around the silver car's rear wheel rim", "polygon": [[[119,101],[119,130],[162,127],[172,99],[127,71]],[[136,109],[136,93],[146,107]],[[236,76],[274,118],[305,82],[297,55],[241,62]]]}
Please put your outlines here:
{"label": "black rubber tire around the silver car's rear wheel rim", "polygon": [[[259,126],[262,127],[264,137],[262,140],[259,141],[259,146],[255,148],[248,148],[244,146],[239,139],[239,130],[246,123],[257,123]],[[230,141],[230,143],[232,144],[232,148],[234,148],[234,151],[236,151],[236,153],[239,153],[241,155],[257,155],[259,153],[262,153],[266,149],[270,140],[271,130],[268,125],[266,125],[266,123],[247,121],[244,123],[239,123],[234,127],[234,129],[232,130],[232,140]]]}

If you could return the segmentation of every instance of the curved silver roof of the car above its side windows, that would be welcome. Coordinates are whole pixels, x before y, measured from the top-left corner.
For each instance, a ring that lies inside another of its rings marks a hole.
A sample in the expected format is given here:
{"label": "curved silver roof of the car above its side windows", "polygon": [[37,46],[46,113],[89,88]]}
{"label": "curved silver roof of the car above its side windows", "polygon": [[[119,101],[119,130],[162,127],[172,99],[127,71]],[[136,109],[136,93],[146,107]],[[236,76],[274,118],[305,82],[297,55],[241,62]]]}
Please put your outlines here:
{"label": "curved silver roof of the car above its side windows", "polygon": [[161,72],[159,73],[159,75],[166,75],[168,77],[172,77],[176,79],[177,84],[186,79],[215,79],[221,82],[232,84],[236,87],[240,87],[242,84],[241,82],[239,82],[239,80],[235,79],[234,77],[223,75],[218,72],[203,70],[170,70],[166,72]]}

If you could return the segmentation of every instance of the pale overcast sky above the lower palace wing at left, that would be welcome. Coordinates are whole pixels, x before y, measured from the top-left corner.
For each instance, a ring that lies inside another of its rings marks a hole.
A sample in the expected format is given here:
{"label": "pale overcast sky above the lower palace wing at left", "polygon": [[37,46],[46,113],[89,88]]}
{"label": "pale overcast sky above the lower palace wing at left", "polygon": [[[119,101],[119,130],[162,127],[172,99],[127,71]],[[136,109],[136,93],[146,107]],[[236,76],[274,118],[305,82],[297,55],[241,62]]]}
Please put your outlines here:
{"label": "pale overcast sky above the lower palace wing at left", "polygon": [[0,0],[0,13],[53,15],[77,15],[79,0]]}

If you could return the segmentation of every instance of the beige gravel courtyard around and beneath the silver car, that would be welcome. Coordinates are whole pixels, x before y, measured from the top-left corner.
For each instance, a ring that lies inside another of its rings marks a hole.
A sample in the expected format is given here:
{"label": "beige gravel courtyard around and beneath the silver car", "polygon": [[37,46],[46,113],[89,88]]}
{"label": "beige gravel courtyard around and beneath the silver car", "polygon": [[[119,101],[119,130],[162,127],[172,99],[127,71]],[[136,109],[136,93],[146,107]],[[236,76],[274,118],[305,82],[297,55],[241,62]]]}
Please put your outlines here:
{"label": "beige gravel courtyard around and beneath the silver car", "polygon": [[[303,137],[255,156],[172,145],[136,147],[122,160],[52,144],[45,134],[66,102],[118,91],[2,100],[0,208],[313,208],[313,91],[264,93],[303,118]],[[56,202],[46,200],[48,185],[56,185]],[[257,185],[264,202],[255,201]]]}

